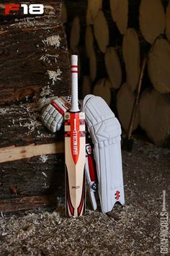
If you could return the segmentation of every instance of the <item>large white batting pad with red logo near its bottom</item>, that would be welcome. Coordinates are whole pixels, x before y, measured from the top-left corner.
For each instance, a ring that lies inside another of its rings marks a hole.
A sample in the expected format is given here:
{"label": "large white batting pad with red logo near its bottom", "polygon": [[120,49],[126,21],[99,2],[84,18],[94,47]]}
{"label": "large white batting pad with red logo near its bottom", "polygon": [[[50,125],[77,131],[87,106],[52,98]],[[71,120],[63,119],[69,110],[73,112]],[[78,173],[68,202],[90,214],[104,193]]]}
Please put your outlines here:
{"label": "large white batting pad with red logo near its bottom", "polygon": [[98,191],[102,212],[112,210],[115,202],[125,204],[122,178],[120,123],[100,97],[87,95],[83,111],[94,143],[94,160],[97,166]]}

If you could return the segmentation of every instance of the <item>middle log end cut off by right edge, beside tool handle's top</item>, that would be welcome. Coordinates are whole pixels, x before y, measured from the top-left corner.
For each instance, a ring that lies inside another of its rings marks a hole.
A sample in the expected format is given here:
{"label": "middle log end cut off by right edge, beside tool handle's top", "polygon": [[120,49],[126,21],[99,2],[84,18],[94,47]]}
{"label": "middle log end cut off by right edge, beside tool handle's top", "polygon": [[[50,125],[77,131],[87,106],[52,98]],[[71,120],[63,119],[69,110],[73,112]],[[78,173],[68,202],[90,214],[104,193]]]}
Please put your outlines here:
{"label": "middle log end cut off by right edge, beside tool handle's top", "polygon": [[158,38],[153,44],[148,59],[148,74],[156,90],[160,93],[170,92],[170,43]]}

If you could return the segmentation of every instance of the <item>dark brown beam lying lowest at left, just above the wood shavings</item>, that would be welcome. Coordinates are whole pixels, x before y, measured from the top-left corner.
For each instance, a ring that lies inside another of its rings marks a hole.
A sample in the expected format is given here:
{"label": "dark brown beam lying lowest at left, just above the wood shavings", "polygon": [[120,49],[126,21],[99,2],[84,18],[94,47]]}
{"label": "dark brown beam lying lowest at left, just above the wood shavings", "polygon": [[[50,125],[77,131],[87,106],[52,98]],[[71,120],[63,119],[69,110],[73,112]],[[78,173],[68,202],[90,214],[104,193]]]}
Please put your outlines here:
{"label": "dark brown beam lying lowest at left, just above the wood shavings", "polygon": [[40,195],[32,197],[17,197],[0,200],[0,212],[14,212],[43,206],[55,206],[57,199],[54,195]]}

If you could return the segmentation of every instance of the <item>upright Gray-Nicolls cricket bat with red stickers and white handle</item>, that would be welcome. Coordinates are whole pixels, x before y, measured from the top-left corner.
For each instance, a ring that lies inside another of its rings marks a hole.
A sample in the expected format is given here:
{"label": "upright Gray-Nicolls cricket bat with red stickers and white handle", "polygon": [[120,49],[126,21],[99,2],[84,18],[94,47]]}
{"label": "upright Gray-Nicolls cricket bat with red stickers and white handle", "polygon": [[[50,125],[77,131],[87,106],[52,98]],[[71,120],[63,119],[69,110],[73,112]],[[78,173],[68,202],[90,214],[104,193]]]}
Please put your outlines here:
{"label": "upright Gray-Nicolls cricket bat with red stickers and white handle", "polygon": [[71,56],[71,108],[65,116],[66,216],[78,217],[86,207],[85,114],[78,102],[78,56]]}

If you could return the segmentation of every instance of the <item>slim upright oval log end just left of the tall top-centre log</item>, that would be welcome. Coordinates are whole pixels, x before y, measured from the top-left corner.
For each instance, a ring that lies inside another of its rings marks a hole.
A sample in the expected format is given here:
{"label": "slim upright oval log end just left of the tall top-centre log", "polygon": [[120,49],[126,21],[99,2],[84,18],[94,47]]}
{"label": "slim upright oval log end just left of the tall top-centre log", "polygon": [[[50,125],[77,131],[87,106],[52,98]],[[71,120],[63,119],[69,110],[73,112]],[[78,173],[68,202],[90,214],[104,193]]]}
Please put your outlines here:
{"label": "slim upright oval log end just left of the tall top-centre log", "polygon": [[97,17],[94,20],[94,36],[100,51],[105,53],[109,44],[109,28],[102,10],[99,10]]}

